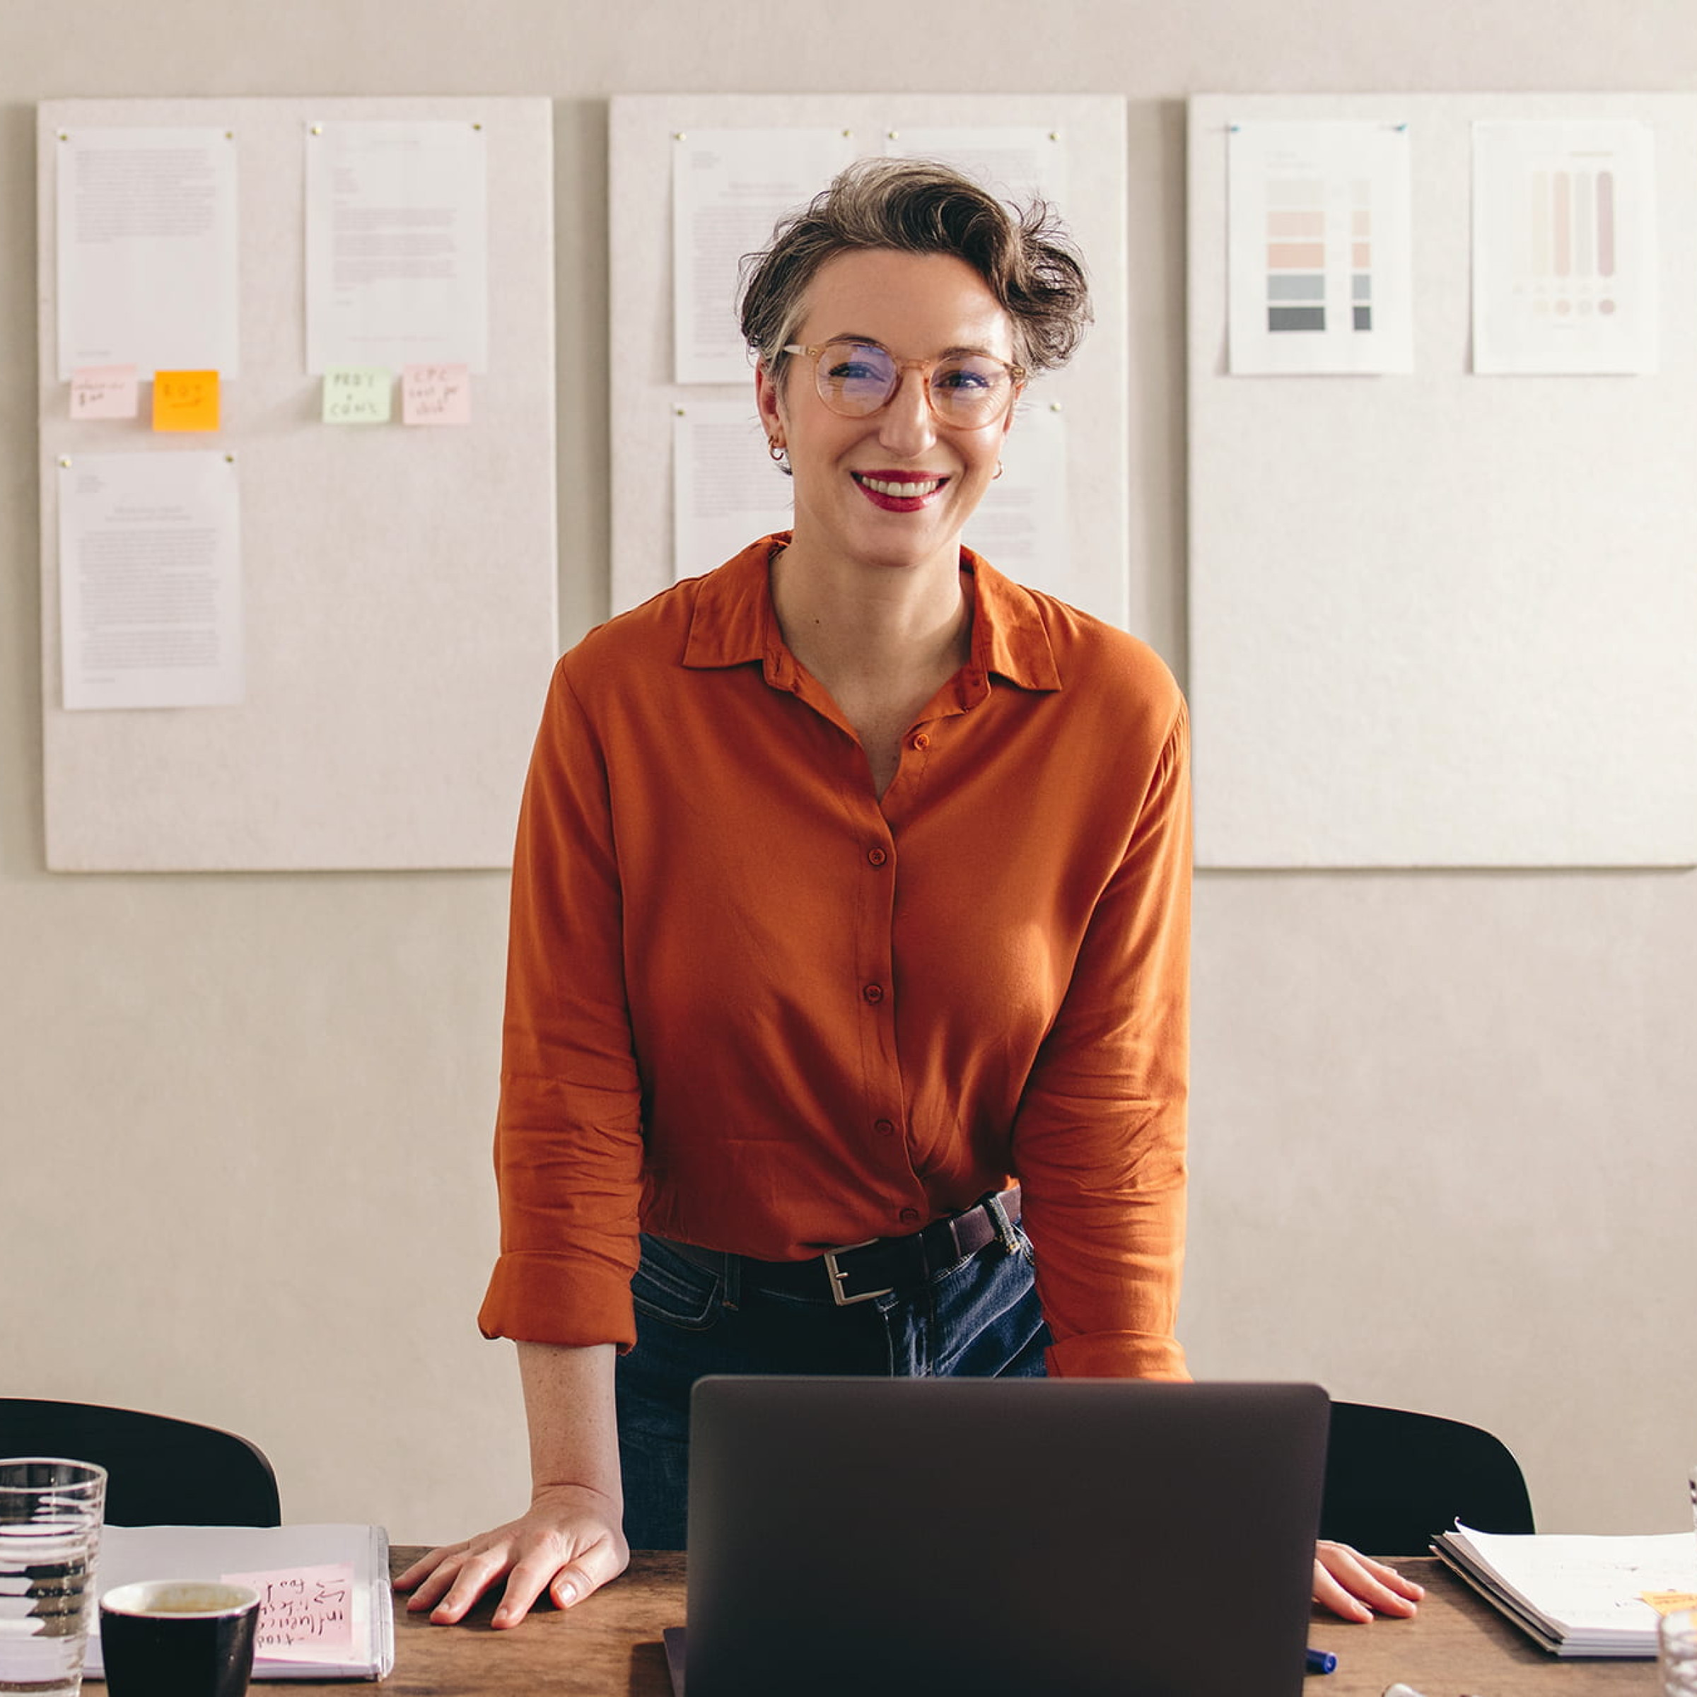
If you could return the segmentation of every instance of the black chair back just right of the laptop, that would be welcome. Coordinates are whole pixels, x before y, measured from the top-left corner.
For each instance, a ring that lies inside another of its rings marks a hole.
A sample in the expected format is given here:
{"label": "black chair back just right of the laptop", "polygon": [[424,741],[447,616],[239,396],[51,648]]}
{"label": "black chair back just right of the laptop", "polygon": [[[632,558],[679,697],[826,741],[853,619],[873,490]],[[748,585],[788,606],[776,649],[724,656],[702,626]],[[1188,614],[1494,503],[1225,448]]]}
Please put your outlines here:
{"label": "black chair back just right of the laptop", "polygon": [[1521,1463],[1490,1432],[1436,1414],[1332,1403],[1320,1537],[1371,1556],[1425,1554],[1454,1521],[1531,1532]]}

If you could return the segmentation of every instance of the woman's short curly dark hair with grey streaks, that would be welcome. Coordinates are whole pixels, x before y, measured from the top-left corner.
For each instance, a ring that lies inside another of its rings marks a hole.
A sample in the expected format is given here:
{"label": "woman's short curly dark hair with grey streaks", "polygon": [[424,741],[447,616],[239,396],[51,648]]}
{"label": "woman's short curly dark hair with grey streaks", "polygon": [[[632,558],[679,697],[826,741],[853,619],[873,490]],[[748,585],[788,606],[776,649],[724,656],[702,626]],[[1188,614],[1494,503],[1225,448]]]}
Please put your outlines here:
{"label": "woman's short curly dark hair with grey streaks", "polygon": [[937,160],[857,160],[743,260],[743,339],[774,378],[820,266],[862,248],[964,260],[1013,321],[1030,372],[1066,365],[1089,324],[1084,261],[1047,202],[1005,204]]}

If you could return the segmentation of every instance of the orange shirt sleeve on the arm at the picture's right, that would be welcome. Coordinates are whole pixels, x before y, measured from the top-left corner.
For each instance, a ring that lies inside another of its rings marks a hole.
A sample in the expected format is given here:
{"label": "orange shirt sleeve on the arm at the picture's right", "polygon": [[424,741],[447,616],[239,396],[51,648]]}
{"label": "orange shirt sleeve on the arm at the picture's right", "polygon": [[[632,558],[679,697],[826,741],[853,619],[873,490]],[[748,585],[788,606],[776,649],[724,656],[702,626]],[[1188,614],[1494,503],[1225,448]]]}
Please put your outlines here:
{"label": "orange shirt sleeve on the arm at the picture's right", "polygon": [[1188,1378],[1185,1251],[1190,723],[1144,774],[1123,859],[1015,1122],[1025,1222],[1062,1378]]}

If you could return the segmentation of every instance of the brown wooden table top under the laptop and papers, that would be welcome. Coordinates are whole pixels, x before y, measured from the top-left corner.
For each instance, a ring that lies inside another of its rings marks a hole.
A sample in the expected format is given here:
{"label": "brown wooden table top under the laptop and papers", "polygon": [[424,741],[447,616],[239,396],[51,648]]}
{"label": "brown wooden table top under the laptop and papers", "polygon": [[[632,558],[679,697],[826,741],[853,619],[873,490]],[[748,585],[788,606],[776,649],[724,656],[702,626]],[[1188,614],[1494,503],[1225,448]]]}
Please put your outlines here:
{"label": "brown wooden table top under the laptop and papers", "polygon": [[[419,1554],[395,1549],[394,1570]],[[1419,1616],[1371,1626],[1317,1616],[1310,1643],[1337,1653],[1337,1672],[1310,1677],[1307,1697],[1380,1697],[1393,1680],[1422,1697],[1655,1697],[1660,1689],[1653,1661],[1560,1661],[1544,1655],[1432,1558],[1397,1566],[1425,1587]],[[395,1604],[395,1672],[375,1687],[382,1697],[669,1697],[660,1633],[684,1622],[684,1558],[640,1554],[623,1578],[587,1602],[563,1614],[541,1610],[504,1633],[489,1626],[489,1602],[460,1626],[431,1626],[424,1616],[407,1614],[404,1599]],[[305,1690],[314,1697],[373,1694],[358,1682]]]}

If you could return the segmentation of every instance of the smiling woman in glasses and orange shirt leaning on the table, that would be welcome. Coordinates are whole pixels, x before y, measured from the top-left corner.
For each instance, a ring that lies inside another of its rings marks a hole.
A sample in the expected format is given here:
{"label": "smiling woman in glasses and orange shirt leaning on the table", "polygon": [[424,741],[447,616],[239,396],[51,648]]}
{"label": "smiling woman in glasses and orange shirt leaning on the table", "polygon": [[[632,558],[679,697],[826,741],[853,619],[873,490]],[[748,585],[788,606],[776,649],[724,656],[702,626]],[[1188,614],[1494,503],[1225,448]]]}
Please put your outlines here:
{"label": "smiling woman in glasses and orange shirt leaning on the table", "polygon": [[[920,161],[753,266],[794,529],[592,631],[538,735],[480,1315],[535,1495],[402,1575],[431,1619],[679,1548],[708,1371],[1186,1376],[1185,703],[961,546],[1086,321],[1040,207]],[[1419,1595],[1315,1571],[1346,1617]]]}

